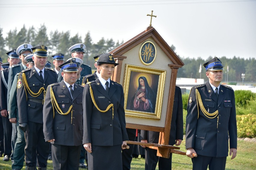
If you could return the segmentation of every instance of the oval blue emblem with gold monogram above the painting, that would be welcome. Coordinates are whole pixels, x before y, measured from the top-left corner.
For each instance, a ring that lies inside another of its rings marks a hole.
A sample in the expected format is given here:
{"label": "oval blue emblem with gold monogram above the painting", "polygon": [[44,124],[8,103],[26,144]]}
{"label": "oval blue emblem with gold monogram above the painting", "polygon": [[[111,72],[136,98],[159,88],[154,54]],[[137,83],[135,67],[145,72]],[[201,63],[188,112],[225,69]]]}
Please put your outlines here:
{"label": "oval blue emblem with gold monogram above the painting", "polygon": [[145,65],[150,65],[154,62],[157,55],[156,46],[151,41],[146,41],[142,44],[139,50],[140,60]]}

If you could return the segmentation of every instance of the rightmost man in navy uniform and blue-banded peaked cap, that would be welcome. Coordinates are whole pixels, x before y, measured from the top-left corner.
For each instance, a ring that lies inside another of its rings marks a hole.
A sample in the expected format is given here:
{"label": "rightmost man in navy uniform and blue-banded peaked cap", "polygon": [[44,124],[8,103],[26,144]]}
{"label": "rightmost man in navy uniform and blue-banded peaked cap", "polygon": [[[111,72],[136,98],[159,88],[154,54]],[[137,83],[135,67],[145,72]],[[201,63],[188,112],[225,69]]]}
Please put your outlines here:
{"label": "rightmost man in navy uniform and blue-banded peaked cap", "polygon": [[232,88],[220,84],[224,70],[220,59],[215,57],[203,66],[209,81],[191,88],[187,103],[187,156],[192,158],[194,170],[208,166],[210,170],[224,170],[229,145],[231,159],[236,157],[235,95]]}

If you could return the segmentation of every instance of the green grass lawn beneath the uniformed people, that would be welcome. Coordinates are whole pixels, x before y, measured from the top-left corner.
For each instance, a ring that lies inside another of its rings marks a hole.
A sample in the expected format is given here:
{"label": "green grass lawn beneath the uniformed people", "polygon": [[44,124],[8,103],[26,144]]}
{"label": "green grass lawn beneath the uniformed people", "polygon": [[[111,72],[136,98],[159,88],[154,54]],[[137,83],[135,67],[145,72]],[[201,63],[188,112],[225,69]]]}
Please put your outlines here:
{"label": "green grass lawn beneath the uniformed people", "polygon": [[[256,143],[238,141],[237,156],[235,159],[230,160],[230,156],[227,157],[226,170],[252,170],[256,169]],[[181,151],[185,151],[185,142],[181,143]],[[131,164],[133,170],[144,170],[145,159],[134,158]],[[25,166],[23,167],[25,169]],[[52,170],[52,161],[48,161],[47,169]],[[172,155],[172,170],[187,170],[192,169],[191,159],[185,155]],[[0,170],[11,170],[11,161],[5,162],[0,159]],[[80,169],[82,170],[82,169]],[[156,168],[158,170],[158,166]]]}

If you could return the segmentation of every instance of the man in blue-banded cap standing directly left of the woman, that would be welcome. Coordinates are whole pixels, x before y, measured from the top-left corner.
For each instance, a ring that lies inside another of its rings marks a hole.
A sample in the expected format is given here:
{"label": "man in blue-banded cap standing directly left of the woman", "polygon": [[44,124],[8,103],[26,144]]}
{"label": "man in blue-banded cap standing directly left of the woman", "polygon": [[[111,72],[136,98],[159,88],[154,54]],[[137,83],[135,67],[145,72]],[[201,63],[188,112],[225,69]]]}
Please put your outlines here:
{"label": "man in blue-banded cap standing directly left of the woman", "polygon": [[[59,66],[63,80],[49,85],[43,108],[45,141],[52,143],[53,169],[78,170],[83,139],[83,90],[77,80],[77,62]],[[65,135],[64,135],[65,134]]]}

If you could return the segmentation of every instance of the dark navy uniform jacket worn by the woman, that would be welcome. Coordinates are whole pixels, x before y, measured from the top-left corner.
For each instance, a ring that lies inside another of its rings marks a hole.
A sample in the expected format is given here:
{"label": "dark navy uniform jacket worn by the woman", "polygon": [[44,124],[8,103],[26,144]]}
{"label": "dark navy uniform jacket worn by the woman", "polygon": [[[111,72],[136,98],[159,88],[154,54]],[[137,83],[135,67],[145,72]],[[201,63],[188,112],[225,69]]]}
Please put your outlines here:
{"label": "dark navy uniform jacket worn by the woman", "polygon": [[105,113],[96,108],[90,95],[90,86],[86,84],[83,94],[83,143],[91,143],[96,146],[121,145],[123,141],[128,140],[122,85],[110,80],[109,94],[98,78],[92,81],[90,85],[99,109],[105,111],[108,105],[112,103],[114,105],[114,117],[112,117],[112,107]]}

